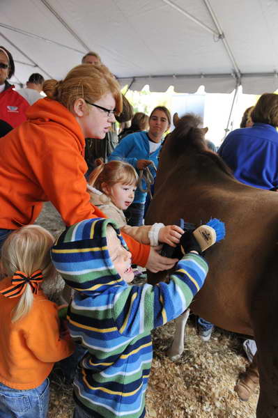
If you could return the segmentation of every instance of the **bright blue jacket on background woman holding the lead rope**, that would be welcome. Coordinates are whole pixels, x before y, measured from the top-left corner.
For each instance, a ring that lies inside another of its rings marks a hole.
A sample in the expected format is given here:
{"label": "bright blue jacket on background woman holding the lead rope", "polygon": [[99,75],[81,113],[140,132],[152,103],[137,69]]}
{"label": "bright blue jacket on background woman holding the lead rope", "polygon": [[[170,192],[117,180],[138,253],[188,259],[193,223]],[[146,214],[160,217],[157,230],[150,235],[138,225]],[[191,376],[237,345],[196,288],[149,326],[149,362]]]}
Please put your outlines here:
{"label": "bright blue jacket on background woman holding the lead rope", "polygon": [[[109,156],[109,161],[111,160],[124,160],[129,162],[134,169],[137,169],[138,160],[151,160],[155,163],[155,167],[158,166],[158,155],[160,153],[159,146],[157,150],[150,154],[150,146],[148,142],[148,134],[145,131],[135,132],[130,134],[127,137],[123,138],[114,149],[113,153]],[[155,170],[153,167],[149,166],[153,177],[155,177]],[[138,172],[138,169],[137,169]],[[146,188],[146,183],[143,181],[142,186]],[[137,187],[134,196],[134,203],[145,203],[146,193],[143,193]]]}

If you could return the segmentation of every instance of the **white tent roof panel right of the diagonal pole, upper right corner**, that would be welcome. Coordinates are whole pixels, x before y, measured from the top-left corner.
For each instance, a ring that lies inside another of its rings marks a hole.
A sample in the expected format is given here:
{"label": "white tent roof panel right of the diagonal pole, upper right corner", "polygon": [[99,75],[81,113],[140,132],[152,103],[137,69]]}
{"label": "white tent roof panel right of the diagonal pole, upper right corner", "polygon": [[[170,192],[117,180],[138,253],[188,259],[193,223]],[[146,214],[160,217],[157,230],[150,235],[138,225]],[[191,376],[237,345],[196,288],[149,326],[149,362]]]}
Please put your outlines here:
{"label": "white tent roof panel right of the diagonal pole, upper right corner", "polygon": [[211,0],[240,72],[278,69],[277,0]]}

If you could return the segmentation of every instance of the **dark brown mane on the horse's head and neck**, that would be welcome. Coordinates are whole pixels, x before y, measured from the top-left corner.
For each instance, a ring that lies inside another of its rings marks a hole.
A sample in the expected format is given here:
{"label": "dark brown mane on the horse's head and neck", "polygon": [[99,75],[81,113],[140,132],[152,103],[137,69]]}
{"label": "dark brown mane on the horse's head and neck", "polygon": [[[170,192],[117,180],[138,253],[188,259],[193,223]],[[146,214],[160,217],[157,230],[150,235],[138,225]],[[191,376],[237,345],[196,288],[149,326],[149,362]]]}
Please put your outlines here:
{"label": "dark brown mane on the horse's head and neck", "polygon": [[204,132],[201,127],[201,118],[194,114],[186,114],[176,124],[176,128],[167,136],[167,151],[173,157],[179,157],[191,150],[198,160],[210,159],[213,164],[233,178],[231,169],[226,165],[219,155],[208,150],[204,139]]}

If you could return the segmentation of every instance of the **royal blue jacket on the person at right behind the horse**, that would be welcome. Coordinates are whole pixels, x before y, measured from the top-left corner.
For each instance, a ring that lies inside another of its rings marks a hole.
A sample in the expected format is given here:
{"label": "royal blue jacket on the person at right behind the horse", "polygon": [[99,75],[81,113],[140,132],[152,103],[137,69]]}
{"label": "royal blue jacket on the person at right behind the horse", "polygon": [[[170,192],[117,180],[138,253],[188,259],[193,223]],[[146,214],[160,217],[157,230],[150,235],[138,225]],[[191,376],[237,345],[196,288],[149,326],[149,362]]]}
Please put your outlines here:
{"label": "royal blue jacket on the person at right behind the horse", "polygon": [[218,151],[241,183],[258,189],[278,186],[278,133],[266,123],[229,133]]}

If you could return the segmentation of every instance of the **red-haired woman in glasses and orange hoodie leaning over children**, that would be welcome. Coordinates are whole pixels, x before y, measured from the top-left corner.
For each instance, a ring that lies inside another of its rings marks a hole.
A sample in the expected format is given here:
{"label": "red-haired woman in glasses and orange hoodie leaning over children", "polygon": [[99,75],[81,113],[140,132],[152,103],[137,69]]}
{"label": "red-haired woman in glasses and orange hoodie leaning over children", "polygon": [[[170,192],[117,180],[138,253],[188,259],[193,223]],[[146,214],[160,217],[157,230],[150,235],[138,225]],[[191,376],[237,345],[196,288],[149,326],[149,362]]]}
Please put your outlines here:
{"label": "red-haired woman in glasses and orange hoodie leaning over children", "polygon": [[[84,160],[86,137],[104,139],[114,113],[121,114],[121,91],[104,65],[78,65],[61,82],[47,80],[47,98],[26,112],[27,121],[0,141],[0,241],[32,224],[43,202],[51,201],[66,226],[105,217],[90,203]],[[176,260],[125,236],[133,263],[153,272]]]}

